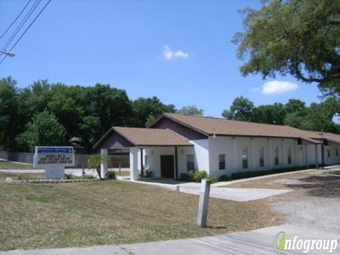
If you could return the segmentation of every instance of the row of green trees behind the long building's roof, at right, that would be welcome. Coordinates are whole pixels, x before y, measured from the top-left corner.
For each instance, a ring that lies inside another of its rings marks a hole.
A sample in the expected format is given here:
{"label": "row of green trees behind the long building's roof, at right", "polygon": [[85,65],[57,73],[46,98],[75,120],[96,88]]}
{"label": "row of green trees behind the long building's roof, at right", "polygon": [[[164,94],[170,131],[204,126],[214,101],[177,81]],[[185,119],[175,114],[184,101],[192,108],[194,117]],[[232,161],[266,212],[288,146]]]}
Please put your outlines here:
{"label": "row of green trees behind the long building's roof, at right", "polygon": [[290,99],[288,103],[254,106],[248,98],[235,98],[229,110],[222,116],[229,120],[244,120],[254,123],[272,125],[290,125],[302,130],[314,130],[340,133],[340,125],[333,118],[339,115],[340,103],[335,98],[327,98],[322,103],[312,103],[309,107],[298,99]]}

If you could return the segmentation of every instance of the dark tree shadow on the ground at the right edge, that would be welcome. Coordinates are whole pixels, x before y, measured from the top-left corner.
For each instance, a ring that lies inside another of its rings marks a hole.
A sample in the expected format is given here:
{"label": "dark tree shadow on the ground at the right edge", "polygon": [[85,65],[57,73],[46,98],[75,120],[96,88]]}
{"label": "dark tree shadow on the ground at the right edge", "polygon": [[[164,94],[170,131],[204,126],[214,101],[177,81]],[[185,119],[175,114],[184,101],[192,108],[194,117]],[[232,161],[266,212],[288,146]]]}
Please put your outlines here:
{"label": "dark tree shadow on the ground at the right edge", "polygon": [[293,189],[306,189],[310,196],[340,198],[340,171],[332,171],[326,176],[310,176],[298,180],[301,183],[285,184],[285,186]]}

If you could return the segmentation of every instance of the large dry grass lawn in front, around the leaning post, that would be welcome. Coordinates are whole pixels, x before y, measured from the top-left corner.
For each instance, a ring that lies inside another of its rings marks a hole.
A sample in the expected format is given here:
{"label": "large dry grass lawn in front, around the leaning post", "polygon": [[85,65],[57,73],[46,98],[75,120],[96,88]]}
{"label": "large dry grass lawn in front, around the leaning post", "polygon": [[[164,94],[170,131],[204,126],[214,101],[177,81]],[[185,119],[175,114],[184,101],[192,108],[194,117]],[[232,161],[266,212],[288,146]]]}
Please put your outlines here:
{"label": "large dry grass lawn in front, around the leaning post", "polygon": [[208,227],[200,229],[198,196],[113,180],[9,184],[8,176],[16,174],[0,174],[1,250],[130,244],[280,224],[264,200],[210,198]]}

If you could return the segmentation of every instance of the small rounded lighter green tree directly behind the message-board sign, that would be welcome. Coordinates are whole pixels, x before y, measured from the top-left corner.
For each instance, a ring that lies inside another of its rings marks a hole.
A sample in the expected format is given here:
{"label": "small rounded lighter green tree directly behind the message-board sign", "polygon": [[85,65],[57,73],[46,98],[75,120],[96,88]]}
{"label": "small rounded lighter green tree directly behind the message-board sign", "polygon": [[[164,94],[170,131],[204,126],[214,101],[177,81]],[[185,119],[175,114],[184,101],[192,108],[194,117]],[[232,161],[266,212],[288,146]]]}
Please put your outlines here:
{"label": "small rounded lighter green tree directly behind the message-board sign", "polygon": [[34,152],[35,146],[60,146],[65,144],[65,128],[58,123],[53,113],[47,110],[33,115],[26,132],[17,137],[22,147]]}

